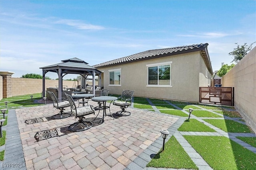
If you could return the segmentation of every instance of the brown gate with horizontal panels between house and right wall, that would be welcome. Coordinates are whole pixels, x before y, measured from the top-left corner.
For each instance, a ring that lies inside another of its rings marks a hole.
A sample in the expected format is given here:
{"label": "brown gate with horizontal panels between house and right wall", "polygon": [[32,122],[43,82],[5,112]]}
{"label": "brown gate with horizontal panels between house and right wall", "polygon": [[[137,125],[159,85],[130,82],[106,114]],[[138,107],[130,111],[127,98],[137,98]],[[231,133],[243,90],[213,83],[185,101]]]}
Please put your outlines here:
{"label": "brown gate with horizontal panels between house and right wall", "polygon": [[234,106],[234,87],[199,87],[199,95],[200,103]]}

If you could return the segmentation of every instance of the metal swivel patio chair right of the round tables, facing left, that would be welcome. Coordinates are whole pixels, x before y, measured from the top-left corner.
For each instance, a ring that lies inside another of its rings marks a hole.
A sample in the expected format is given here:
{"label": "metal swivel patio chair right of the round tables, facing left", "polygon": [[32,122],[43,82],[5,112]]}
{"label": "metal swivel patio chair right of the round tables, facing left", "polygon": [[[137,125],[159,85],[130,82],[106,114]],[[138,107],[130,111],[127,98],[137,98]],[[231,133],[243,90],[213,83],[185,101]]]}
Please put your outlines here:
{"label": "metal swivel patio chair right of the round tables, facing left", "polygon": [[115,100],[113,105],[120,106],[122,110],[117,111],[115,114],[118,116],[128,116],[131,115],[130,111],[126,111],[125,109],[131,105],[132,96],[134,90],[123,90],[121,98]]}

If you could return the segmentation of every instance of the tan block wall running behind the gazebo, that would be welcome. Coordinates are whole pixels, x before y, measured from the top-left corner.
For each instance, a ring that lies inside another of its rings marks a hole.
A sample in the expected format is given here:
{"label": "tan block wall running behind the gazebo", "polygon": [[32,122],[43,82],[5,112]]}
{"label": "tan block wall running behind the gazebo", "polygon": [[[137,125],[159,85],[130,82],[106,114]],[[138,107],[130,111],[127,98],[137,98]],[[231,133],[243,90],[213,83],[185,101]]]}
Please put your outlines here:
{"label": "tan block wall running behind the gazebo", "polygon": [[[72,88],[77,86],[77,81],[63,80],[63,85]],[[58,80],[45,80],[45,89],[56,87]],[[42,92],[42,79],[36,78],[12,78],[12,96],[21,96],[25,94],[34,94]]]}

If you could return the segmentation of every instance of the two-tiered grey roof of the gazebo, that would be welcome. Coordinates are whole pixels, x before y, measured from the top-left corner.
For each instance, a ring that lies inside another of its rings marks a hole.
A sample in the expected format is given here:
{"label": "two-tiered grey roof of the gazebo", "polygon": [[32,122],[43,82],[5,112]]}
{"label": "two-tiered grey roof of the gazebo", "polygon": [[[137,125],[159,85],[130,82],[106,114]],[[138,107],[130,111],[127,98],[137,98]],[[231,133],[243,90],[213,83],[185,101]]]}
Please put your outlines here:
{"label": "two-tiered grey roof of the gazebo", "polygon": [[88,71],[95,71],[101,73],[96,68],[89,66],[88,63],[78,58],[62,60],[62,63],[53,64],[49,66],[40,67],[46,72],[57,72],[59,68],[63,70],[64,74],[86,74]]}

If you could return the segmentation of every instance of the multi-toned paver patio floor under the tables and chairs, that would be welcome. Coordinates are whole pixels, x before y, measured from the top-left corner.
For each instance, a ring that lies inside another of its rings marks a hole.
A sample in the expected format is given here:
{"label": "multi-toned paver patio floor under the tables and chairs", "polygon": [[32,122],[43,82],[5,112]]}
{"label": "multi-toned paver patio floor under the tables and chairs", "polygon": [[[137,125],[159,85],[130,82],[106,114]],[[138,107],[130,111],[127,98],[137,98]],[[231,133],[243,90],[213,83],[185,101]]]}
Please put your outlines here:
{"label": "multi-toned paver patio floor under the tables and chairs", "polygon": [[[89,101],[89,104],[96,106],[96,102]],[[111,106],[112,113],[118,110],[120,107]],[[75,122],[74,117],[50,119],[51,115],[58,113],[52,105],[16,109],[26,168],[121,170],[160,137],[161,129],[168,129],[178,120],[141,109],[127,110],[131,111],[130,116],[114,120],[107,116],[100,125],[86,131],[70,132],[68,126]],[[39,117],[43,122],[25,123]],[[102,111],[99,117],[102,117]],[[50,135],[42,133],[44,140],[36,140],[36,133],[50,129],[56,129],[58,135],[51,137],[56,131]]]}

